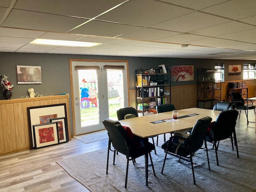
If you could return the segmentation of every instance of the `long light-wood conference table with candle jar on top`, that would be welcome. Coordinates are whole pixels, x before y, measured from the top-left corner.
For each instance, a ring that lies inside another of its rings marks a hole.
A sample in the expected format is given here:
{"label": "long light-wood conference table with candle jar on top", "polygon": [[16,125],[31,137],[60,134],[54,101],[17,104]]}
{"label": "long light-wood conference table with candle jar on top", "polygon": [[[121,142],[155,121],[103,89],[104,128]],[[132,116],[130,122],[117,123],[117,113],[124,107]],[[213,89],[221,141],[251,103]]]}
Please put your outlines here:
{"label": "long light-wood conference table with candle jar on top", "polygon": [[[221,111],[209,109],[188,108],[178,110],[178,116],[182,117],[188,116],[190,114],[196,115],[180,118],[179,121],[176,122],[152,123],[158,122],[162,119],[172,118],[172,112],[164,112],[136,118],[130,118],[120,120],[119,122],[124,126],[128,126],[132,130],[132,133],[134,135],[140,136],[142,138],[145,138],[145,140],[148,140],[148,138],[152,136],[192,128],[198,119],[204,118],[206,116],[211,117],[212,121],[214,122],[220,112]],[[146,155],[145,158],[145,166],[146,186],[148,186],[148,155]]]}

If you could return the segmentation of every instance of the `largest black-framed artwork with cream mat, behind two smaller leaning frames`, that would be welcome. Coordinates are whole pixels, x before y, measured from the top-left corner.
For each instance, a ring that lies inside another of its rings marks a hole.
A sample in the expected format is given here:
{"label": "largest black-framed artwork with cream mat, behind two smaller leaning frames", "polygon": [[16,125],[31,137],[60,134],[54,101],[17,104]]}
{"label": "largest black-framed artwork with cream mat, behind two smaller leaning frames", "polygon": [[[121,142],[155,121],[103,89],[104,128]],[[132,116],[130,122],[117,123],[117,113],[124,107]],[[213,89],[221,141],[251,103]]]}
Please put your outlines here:
{"label": "largest black-framed artwork with cream mat, behind two smaller leaning frames", "polygon": [[31,148],[35,147],[34,144],[34,130],[33,125],[50,123],[54,118],[66,118],[67,110],[66,104],[54,104],[44,106],[28,107],[28,121],[31,130]]}

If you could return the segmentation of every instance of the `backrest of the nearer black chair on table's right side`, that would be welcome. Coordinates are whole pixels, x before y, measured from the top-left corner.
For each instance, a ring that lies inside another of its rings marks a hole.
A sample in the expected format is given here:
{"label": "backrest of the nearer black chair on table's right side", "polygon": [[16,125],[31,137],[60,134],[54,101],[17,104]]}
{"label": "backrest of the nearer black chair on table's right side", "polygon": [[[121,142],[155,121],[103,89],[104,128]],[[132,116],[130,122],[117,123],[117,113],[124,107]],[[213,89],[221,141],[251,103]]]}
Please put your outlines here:
{"label": "backrest of the nearer black chair on table's right side", "polygon": [[212,118],[204,117],[196,121],[194,127],[188,136],[188,146],[191,153],[196,152],[199,150],[203,143],[206,136],[207,129],[212,122]]}

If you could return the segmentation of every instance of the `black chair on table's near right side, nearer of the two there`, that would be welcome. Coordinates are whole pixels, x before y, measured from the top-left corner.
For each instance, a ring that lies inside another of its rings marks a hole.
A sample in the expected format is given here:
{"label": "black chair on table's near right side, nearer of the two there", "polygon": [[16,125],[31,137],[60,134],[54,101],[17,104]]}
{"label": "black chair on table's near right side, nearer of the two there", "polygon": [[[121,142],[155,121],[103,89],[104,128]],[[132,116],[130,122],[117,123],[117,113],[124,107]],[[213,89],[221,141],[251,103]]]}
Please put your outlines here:
{"label": "black chair on table's near right side, nearer of the two there", "polygon": [[[165,157],[161,173],[164,171],[167,154],[171,154],[173,156],[179,157],[179,162],[180,159],[191,162],[193,180],[194,184],[196,184],[192,156],[194,156],[194,153],[202,147],[203,143],[206,148],[208,169],[210,170],[210,162],[205,136],[211,121],[212,118],[210,117],[199,119],[196,121],[196,124],[194,125],[190,135],[187,138],[172,136],[170,137],[170,140],[162,144],[162,148],[165,151]],[[182,142],[180,142],[181,140]]]}

